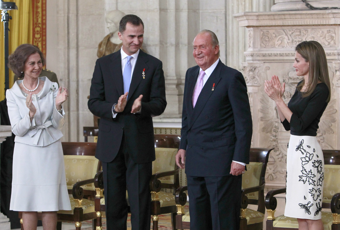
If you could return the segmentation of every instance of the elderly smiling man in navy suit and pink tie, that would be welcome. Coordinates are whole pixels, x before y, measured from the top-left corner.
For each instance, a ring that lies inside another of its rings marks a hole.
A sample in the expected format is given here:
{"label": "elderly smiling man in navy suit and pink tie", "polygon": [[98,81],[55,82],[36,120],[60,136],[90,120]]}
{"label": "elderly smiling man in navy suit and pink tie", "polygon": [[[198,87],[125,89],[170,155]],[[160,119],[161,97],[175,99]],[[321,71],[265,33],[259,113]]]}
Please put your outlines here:
{"label": "elderly smiling man in navy suit and pink tie", "polygon": [[193,41],[198,66],[185,76],[176,164],[188,180],[190,229],[239,228],[242,173],[249,163],[252,117],[242,74],[219,59],[214,32]]}

